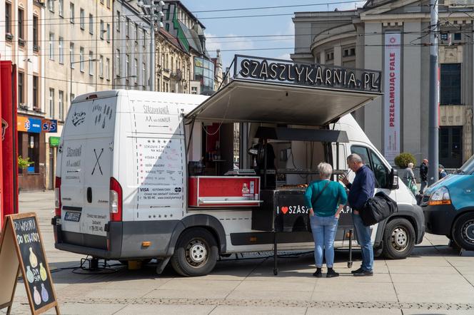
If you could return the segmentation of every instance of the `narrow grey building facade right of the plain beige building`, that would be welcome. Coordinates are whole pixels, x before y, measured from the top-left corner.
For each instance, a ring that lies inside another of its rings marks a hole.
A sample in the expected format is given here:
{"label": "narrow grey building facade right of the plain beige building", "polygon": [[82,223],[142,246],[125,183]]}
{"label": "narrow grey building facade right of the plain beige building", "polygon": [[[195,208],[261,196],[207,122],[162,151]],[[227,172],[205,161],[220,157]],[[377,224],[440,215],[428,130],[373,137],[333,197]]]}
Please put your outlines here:
{"label": "narrow grey building facade right of the plain beige building", "polygon": [[137,1],[114,1],[113,88],[150,90],[150,22]]}

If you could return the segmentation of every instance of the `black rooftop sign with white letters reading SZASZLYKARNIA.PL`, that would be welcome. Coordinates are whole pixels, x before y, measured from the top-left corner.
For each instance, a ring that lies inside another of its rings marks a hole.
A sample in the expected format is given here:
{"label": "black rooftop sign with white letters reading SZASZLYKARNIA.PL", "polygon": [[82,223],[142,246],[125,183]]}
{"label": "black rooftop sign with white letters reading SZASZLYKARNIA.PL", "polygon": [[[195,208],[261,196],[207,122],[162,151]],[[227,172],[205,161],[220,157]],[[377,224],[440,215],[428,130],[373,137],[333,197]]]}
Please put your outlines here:
{"label": "black rooftop sign with white letters reading SZASZLYKARNIA.PL", "polygon": [[372,93],[381,91],[380,71],[241,55],[236,55],[233,63],[235,79]]}

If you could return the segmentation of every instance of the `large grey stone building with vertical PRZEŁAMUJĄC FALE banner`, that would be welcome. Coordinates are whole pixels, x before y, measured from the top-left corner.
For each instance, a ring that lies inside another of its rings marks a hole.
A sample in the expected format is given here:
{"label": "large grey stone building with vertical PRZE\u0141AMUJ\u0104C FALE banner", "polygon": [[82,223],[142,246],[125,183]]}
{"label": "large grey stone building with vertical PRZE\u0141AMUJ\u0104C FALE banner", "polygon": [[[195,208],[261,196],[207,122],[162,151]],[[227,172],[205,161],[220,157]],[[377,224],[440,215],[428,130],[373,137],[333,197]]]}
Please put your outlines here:
{"label": "large grey stone building with vertical PRZE\u0141AMUJ\u0104C FALE banner", "polygon": [[[473,155],[474,14],[439,12],[439,161],[454,168]],[[384,96],[353,113],[380,152],[390,162],[400,152],[427,158],[430,7],[373,0],[353,11],[298,12],[293,22],[294,61],[382,71]]]}

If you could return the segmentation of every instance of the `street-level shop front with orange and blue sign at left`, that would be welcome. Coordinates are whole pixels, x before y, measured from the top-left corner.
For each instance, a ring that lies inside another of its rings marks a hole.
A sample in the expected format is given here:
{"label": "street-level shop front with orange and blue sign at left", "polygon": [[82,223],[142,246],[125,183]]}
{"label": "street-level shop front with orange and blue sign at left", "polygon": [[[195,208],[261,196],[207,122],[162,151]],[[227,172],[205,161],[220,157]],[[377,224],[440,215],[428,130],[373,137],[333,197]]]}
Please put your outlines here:
{"label": "street-level shop front with orange and blue sign at left", "polygon": [[19,190],[45,189],[45,141],[41,133],[41,118],[18,115],[18,155],[30,162],[19,167]]}

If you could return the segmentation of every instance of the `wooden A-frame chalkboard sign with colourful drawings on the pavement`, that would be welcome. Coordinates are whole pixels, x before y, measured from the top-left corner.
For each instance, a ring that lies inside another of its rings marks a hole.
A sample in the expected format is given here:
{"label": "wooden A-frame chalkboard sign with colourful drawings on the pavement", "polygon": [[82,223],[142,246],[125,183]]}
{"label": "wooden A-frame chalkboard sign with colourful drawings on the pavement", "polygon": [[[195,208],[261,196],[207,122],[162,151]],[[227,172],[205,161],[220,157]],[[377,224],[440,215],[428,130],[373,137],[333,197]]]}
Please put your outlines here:
{"label": "wooden A-frame chalkboard sign with colourful drawings on the pavement", "polygon": [[34,212],[7,215],[0,236],[0,309],[10,314],[21,273],[31,314],[55,308],[59,313],[51,272]]}

